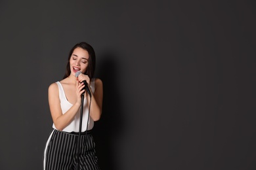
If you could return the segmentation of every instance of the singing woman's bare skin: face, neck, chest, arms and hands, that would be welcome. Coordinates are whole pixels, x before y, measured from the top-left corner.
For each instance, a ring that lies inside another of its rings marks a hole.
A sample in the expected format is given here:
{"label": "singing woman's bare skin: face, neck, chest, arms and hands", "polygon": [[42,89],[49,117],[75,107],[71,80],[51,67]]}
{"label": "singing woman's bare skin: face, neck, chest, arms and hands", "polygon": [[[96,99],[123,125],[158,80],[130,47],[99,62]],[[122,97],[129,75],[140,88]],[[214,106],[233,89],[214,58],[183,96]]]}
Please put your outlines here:
{"label": "singing woman's bare skin: face, neck, chest, arms and hands", "polygon": [[[86,80],[89,89],[90,88],[90,78],[87,75],[80,74],[78,77],[75,77],[75,73],[77,71],[81,71],[81,73],[85,73],[88,66],[89,54],[87,50],[83,48],[75,48],[72,56],[70,58],[70,76],[64,78],[60,81],[64,92],[66,94],[66,98],[73,105],[65,114],[62,114],[62,110],[60,108],[60,99],[58,93],[58,85],[53,83],[49,86],[48,89],[48,99],[49,99],[49,107],[51,111],[51,116],[53,118],[54,126],[62,131],[70,122],[72,122],[75,114],[77,114],[78,110],[80,110],[81,106],[81,93],[85,92],[83,87],[83,80]],[[99,78],[95,78],[95,93],[92,93],[90,97],[87,92],[85,92],[85,97],[87,97],[87,103],[89,105],[91,101],[91,110],[90,116],[94,121],[100,119],[102,113],[102,98],[103,98],[103,85],[102,81]]]}

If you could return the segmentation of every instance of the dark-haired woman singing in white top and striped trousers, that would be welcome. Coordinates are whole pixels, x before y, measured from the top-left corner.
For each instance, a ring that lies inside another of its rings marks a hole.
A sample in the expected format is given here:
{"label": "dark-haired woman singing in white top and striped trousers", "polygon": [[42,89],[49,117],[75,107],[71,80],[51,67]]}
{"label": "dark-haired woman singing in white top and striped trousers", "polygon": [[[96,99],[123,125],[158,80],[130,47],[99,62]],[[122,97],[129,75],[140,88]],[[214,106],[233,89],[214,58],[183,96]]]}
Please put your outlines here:
{"label": "dark-haired woman singing in white top and striped trousers", "polygon": [[[81,74],[75,75],[77,72]],[[93,47],[86,42],[75,44],[70,50],[64,78],[51,84],[48,90],[53,131],[45,147],[45,170],[75,169],[77,165],[79,169],[100,169],[91,129],[94,122],[100,119],[102,112],[103,86],[99,78],[93,78],[94,73]],[[85,81],[91,96],[85,90]],[[80,107],[83,99],[81,95],[84,96],[83,119],[80,146],[77,149]],[[77,150],[80,153],[79,159]]]}

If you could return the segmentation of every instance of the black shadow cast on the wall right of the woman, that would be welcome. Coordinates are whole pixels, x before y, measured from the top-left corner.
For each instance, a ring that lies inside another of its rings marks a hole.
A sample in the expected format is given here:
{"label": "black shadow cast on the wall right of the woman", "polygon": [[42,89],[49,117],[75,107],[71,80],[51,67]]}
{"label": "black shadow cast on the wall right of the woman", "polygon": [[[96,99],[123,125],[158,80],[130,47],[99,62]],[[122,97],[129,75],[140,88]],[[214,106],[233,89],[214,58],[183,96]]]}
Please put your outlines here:
{"label": "black shadow cast on the wall right of the woman", "polygon": [[100,169],[118,170],[116,154],[117,136],[123,131],[121,98],[118,93],[117,61],[114,56],[105,53],[103,61],[97,66],[98,78],[103,82],[102,116],[95,122],[93,137]]}

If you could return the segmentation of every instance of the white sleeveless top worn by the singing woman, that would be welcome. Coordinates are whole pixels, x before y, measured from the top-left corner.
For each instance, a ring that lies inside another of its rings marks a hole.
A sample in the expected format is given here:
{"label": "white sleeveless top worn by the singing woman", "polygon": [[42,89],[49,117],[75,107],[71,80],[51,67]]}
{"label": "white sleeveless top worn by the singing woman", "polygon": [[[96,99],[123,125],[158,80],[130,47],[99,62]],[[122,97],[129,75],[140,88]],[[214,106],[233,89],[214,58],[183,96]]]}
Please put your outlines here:
{"label": "white sleeveless top worn by the singing woman", "polygon": [[[70,109],[70,107],[72,107],[73,105],[66,98],[66,95],[65,95],[64,89],[62,87],[62,84],[60,82],[56,82],[56,84],[58,84],[58,93],[59,93],[59,97],[60,97],[60,107],[62,109],[62,114],[65,114],[65,112],[67,112],[68,109]],[[91,80],[91,90],[92,90],[93,93],[95,92],[95,78],[92,78],[92,80]],[[82,119],[81,132],[86,131],[88,113],[89,113],[89,107],[87,105],[87,98],[84,97],[84,100],[83,100],[83,119]],[[70,122],[70,124],[68,124],[68,126],[66,126],[62,131],[79,132],[79,120],[80,120],[80,109],[75,114],[74,119],[72,120],[72,122]],[[87,130],[93,129],[93,126],[94,126],[94,121],[91,118],[91,116],[89,116],[89,123],[88,123]],[[54,126],[54,123],[53,123],[53,128],[56,129],[56,127]],[[58,130],[58,129],[56,129],[56,130]]]}

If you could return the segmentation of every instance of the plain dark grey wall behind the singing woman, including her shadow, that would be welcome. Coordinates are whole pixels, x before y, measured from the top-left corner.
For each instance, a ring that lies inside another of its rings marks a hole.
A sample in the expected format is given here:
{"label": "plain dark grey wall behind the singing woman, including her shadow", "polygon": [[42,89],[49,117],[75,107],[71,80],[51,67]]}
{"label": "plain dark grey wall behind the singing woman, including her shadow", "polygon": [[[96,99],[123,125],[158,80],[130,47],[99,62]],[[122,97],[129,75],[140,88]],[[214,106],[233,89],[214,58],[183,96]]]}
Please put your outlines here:
{"label": "plain dark grey wall behind the singing woman, including her shadow", "polygon": [[43,169],[49,84],[89,42],[101,169],[255,169],[255,1],[0,1],[0,169]]}

